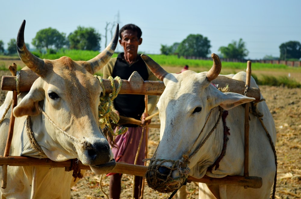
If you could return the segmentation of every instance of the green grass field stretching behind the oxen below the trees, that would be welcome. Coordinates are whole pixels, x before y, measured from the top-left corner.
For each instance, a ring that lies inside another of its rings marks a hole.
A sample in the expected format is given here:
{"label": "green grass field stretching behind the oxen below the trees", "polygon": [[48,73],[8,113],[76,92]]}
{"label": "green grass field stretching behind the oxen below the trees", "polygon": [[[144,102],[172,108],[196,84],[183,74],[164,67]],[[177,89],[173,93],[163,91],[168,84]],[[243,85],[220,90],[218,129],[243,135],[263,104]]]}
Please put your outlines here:
{"label": "green grass field stretching behind the oxen below the trees", "polygon": [[[57,54],[39,55],[42,59],[58,59],[62,56],[70,57],[73,60],[90,60],[97,56],[97,51],[80,51],[80,50],[61,50]],[[189,60],[183,57],[178,58],[176,55],[153,55],[150,56],[167,72],[177,73],[188,65],[190,70],[195,72],[208,71],[212,67],[212,60]],[[114,54],[113,57],[117,57]],[[16,63],[18,70],[25,65],[20,61],[18,56],[0,56],[0,69],[7,70],[8,65]],[[245,71],[247,63],[239,62],[222,62],[221,74],[237,73]],[[102,70],[96,73],[102,75]],[[256,79],[258,84],[273,85],[273,86],[287,86],[287,87],[301,87],[301,67],[289,67],[284,64],[270,64],[270,63],[252,63],[252,76]]]}

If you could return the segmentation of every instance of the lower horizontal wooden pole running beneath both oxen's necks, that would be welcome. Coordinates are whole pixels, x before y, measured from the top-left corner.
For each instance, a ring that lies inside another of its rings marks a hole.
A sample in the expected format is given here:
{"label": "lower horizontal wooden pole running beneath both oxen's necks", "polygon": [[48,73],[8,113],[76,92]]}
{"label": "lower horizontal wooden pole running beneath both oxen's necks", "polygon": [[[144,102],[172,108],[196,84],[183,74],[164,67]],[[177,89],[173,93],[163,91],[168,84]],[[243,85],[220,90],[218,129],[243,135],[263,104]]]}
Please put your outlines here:
{"label": "lower horizontal wooden pole running beneath both oxen's necks", "polygon": [[[41,166],[41,167],[66,167],[70,170],[71,160],[63,162],[55,162],[48,158],[32,158],[26,156],[0,156],[0,165],[7,164],[10,166]],[[78,162],[79,169],[90,170],[90,167]],[[148,167],[142,165],[126,164],[116,162],[116,167],[111,171],[113,173],[123,173],[134,176],[144,176]],[[204,176],[203,178],[196,179],[191,176],[187,178],[188,182],[202,182],[209,185],[233,185],[233,186],[247,186],[249,188],[261,188],[262,178],[257,176],[225,176],[223,178],[212,178]]]}

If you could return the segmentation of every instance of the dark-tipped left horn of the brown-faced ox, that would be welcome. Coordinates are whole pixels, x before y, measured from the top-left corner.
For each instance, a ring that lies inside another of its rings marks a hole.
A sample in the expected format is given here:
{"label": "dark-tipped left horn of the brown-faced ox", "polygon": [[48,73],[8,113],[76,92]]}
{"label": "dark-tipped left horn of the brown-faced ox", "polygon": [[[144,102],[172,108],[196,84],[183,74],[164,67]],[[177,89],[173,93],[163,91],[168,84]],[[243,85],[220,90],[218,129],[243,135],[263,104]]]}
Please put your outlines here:
{"label": "dark-tipped left horn of the brown-faced ox", "polygon": [[44,68],[44,60],[39,57],[34,56],[27,48],[24,42],[24,29],[25,29],[25,20],[23,20],[22,25],[20,26],[18,36],[17,36],[17,52],[21,61],[28,66],[33,72],[37,75],[44,77],[47,73],[47,70]]}

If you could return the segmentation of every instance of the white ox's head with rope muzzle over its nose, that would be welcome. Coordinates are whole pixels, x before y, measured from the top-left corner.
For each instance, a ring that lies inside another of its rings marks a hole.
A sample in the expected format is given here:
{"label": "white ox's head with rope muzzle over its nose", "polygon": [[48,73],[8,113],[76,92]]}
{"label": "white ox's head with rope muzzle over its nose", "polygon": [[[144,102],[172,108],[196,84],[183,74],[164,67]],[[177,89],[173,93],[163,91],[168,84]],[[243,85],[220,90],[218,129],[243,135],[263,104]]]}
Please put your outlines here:
{"label": "white ox's head with rope muzzle over its nose", "polygon": [[[222,66],[216,54],[212,54],[213,66],[208,72],[187,70],[180,74],[168,73],[150,57],[141,57],[166,86],[157,103],[161,123],[160,143],[151,159],[146,179],[151,188],[172,192],[183,185],[188,174],[194,176],[193,167],[200,167],[197,170],[203,177],[206,168],[218,157],[222,142],[216,144],[215,140],[222,140],[223,133],[212,134],[203,148],[196,151],[217,121],[218,106],[228,110],[254,98],[222,93],[211,84]],[[215,116],[206,122],[210,112]]]}

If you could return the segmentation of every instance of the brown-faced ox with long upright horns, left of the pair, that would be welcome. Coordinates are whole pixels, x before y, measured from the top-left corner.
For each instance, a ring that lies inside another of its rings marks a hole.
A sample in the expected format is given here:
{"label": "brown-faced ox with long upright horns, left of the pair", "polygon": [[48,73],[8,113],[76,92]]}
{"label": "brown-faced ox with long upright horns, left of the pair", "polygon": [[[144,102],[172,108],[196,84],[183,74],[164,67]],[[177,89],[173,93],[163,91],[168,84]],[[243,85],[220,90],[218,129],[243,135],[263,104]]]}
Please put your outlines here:
{"label": "brown-faced ox with long upright horns, left of the pair", "polygon": [[[113,55],[118,41],[118,26],[107,48],[89,61],[73,61],[69,57],[42,60],[34,56],[25,46],[24,28],[25,20],[18,33],[17,51],[20,59],[39,78],[28,93],[18,96],[10,155],[50,158],[53,161],[77,158],[97,174],[110,172],[116,163],[109,143],[99,129],[98,104],[102,89],[92,74]],[[11,99],[12,91],[8,92],[0,107],[0,115],[4,114]],[[40,107],[50,120],[40,113]],[[10,112],[11,109],[0,126],[0,155],[4,153]],[[26,133],[26,115],[30,115],[33,136],[42,153],[31,147]],[[103,164],[108,167],[103,168]],[[2,176],[2,167],[0,173]],[[1,199],[70,198],[72,179],[72,171],[66,172],[64,168],[8,166],[7,188],[1,188]]]}

